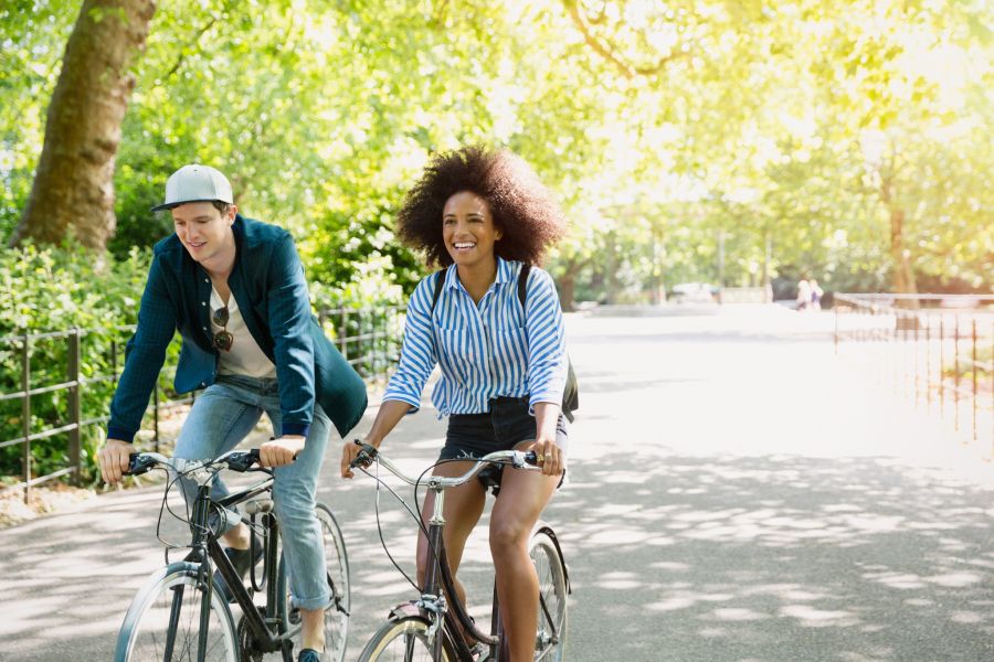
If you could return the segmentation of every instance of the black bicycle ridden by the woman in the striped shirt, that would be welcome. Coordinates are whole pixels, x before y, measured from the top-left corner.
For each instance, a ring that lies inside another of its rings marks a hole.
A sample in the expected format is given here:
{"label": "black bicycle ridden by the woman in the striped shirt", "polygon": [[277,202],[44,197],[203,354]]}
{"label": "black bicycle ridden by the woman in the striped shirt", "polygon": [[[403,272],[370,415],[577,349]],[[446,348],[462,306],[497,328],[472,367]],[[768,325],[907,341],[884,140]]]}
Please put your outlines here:
{"label": "black bicycle ridden by the woman in the striped shirt", "polygon": [[[503,450],[484,456],[469,471],[457,478],[440,476],[413,478],[404,474],[379,450],[363,444],[359,456],[352,461],[352,468],[362,470],[374,478],[379,484],[385,485],[378,476],[367,470],[372,463],[385,467],[404,482],[414,485],[415,490],[423,484],[434,494],[432,519],[425,526],[421,516],[387,485],[387,489],[404,504],[408,512],[415,517],[419,526],[425,532],[431,552],[431,564],[425,574],[424,586],[419,589],[421,595],[416,599],[398,605],[390,611],[387,622],[377,630],[360,653],[359,661],[462,662],[473,660],[483,662],[486,660],[505,662],[508,652],[497,605],[496,586],[490,632],[485,633],[476,627],[455,591],[452,573],[445,558],[445,545],[442,537],[445,520],[442,511],[446,489],[464,484],[488,467],[510,466],[515,469],[538,470],[535,453]],[[487,487],[496,487],[496,481],[491,478],[482,478]],[[538,522],[531,533],[528,551],[539,577],[539,615],[535,659],[561,662],[565,651],[567,599],[570,592],[570,580],[562,551],[559,547],[559,540],[552,527],[544,522]],[[475,644],[470,647],[464,632],[480,642],[484,650],[474,650]]]}

